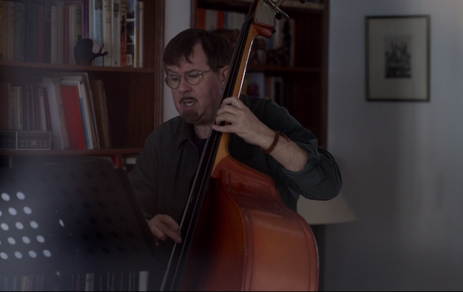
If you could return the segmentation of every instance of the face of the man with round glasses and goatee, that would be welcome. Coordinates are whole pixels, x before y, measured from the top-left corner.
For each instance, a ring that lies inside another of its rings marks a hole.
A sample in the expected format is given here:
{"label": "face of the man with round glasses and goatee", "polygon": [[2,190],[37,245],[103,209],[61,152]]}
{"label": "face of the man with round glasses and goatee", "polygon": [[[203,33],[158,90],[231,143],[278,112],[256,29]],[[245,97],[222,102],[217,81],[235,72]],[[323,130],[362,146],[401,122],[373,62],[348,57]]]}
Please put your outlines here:
{"label": "face of the man with round glasses and goatee", "polygon": [[[215,112],[219,106],[222,88],[227,77],[228,66],[219,72],[209,71],[207,56],[201,43],[193,47],[191,63],[184,58],[180,59],[178,66],[166,66],[167,75],[180,76],[180,84],[172,89],[175,108],[180,116],[193,125],[211,125]],[[202,73],[201,80],[196,85],[190,85],[184,78],[185,73]]]}

